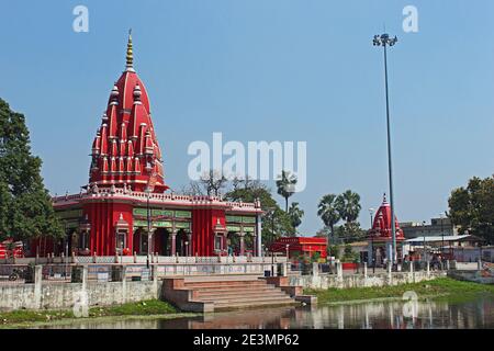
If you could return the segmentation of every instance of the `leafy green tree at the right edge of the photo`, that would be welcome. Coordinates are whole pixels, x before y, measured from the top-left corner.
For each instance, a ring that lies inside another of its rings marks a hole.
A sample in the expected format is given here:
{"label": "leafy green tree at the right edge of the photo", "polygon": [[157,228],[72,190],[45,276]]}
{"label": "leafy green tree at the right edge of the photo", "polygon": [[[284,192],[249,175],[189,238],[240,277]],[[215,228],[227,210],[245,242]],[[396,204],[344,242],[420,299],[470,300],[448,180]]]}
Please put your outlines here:
{"label": "leafy green tree at the right edge of the photo", "polygon": [[448,200],[449,217],[460,226],[490,244],[494,244],[494,176],[472,178],[467,188],[458,188]]}

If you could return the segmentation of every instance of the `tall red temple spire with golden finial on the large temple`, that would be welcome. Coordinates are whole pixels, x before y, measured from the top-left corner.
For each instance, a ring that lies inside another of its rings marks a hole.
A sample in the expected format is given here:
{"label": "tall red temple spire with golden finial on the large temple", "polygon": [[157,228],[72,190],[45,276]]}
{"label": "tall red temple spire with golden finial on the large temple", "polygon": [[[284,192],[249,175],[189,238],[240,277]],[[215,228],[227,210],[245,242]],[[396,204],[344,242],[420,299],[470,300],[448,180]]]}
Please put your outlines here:
{"label": "tall red temple spire with golden finial on the large temple", "polygon": [[[150,116],[145,84],[133,66],[132,36],[128,35],[126,68],[113,86],[101,126],[92,144],[90,184],[155,192],[168,189],[161,150]],[[112,160],[119,160],[112,166]],[[110,160],[110,165],[109,165]]]}

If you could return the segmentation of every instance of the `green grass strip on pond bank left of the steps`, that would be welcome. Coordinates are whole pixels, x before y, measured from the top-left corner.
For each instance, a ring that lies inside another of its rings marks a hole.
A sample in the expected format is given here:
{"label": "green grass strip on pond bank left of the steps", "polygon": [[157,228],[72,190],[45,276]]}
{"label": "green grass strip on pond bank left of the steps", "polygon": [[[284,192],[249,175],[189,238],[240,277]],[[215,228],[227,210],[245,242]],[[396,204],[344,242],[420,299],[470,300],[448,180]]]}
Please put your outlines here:
{"label": "green grass strip on pond bank left of the steps", "polygon": [[[149,299],[138,303],[128,303],[115,306],[91,307],[89,318],[111,316],[159,316],[178,314],[179,310],[167,302]],[[0,313],[0,327],[11,325],[30,325],[36,322],[50,322],[64,319],[75,319],[71,310],[13,310]]]}

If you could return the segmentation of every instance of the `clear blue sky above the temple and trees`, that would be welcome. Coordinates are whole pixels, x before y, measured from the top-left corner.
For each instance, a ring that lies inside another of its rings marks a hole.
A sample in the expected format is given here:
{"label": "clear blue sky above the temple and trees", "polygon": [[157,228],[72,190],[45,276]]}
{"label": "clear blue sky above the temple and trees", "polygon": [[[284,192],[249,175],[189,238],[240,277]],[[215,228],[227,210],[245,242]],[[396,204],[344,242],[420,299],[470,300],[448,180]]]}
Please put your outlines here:
{"label": "clear blue sky above the temple and trees", "polygon": [[[89,33],[72,9],[89,9]],[[402,10],[417,7],[419,32]],[[27,117],[52,193],[88,180],[90,146],[133,29],[166,177],[188,182],[191,141],[306,140],[307,188],[292,197],[322,227],[318,200],[347,189],[378,207],[388,189],[382,53],[390,54],[400,220],[447,210],[452,188],[494,172],[491,0],[0,0],[0,97]],[[282,203],[281,199],[280,203]]]}

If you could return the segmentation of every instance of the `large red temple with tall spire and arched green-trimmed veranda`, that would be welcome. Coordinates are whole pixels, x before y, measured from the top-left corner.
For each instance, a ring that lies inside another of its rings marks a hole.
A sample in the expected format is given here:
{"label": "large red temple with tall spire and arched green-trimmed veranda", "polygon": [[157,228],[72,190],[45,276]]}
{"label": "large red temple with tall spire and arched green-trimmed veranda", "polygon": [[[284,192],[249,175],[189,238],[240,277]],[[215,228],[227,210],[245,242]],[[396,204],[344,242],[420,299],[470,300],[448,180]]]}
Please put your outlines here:
{"label": "large red temple with tall spire and arched green-trimmed veranda", "polygon": [[40,256],[225,256],[261,253],[260,203],[167,192],[164,156],[149,97],[134,70],[128,36],[126,68],[113,86],[91,148],[89,183],[54,197],[66,237],[31,242]]}

